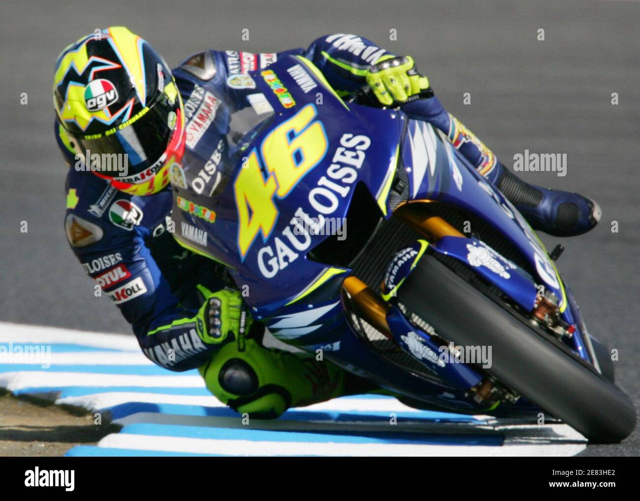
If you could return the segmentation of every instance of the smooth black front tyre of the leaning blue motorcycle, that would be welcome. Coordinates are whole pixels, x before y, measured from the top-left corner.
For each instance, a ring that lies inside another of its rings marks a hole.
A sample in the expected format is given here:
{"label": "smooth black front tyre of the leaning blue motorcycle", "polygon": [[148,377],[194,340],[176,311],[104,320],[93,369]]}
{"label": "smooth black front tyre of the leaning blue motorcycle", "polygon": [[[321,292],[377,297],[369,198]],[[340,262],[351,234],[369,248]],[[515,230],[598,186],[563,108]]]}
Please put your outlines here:
{"label": "smooth black front tyre of the leaning blue motorcycle", "polygon": [[633,431],[636,410],[625,393],[433,256],[420,259],[397,300],[442,338],[491,347],[487,374],[589,441],[617,443]]}

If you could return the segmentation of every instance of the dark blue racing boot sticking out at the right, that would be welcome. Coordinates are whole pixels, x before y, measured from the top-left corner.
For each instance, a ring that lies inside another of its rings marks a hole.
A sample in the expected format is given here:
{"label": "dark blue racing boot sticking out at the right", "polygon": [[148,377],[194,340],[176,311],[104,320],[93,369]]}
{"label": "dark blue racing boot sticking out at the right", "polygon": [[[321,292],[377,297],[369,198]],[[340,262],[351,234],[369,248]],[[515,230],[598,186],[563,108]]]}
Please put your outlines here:
{"label": "dark blue racing boot sticking out at the right", "polygon": [[516,206],[533,229],[550,235],[586,233],[598,224],[602,215],[600,206],[592,199],[579,193],[529,185],[500,162],[488,181]]}

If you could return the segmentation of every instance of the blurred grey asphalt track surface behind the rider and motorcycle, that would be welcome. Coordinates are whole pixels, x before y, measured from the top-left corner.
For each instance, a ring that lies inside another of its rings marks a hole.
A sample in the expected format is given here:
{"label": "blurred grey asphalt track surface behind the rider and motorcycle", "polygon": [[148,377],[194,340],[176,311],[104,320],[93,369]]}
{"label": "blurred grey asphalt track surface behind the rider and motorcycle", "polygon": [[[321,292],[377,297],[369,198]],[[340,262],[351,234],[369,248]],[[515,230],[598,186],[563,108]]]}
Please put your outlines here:
{"label": "blurred grey asphalt track surface behind the rider and motorcycle", "polygon": [[[68,248],[65,167],[52,135],[56,56],[95,28],[118,24],[147,38],[170,65],[207,48],[271,52],[306,47],[327,33],[363,35],[412,54],[445,107],[506,165],[525,149],[566,153],[566,176],[522,176],[591,195],[602,206],[591,233],[543,241],[566,247],[560,271],[589,331],[619,350],[618,384],[638,407],[640,2],[3,0],[0,320],[130,333],[106,297],[93,297]],[[397,41],[389,40],[390,29]],[[538,29],[545,40],[537,40]],[[20,233],[22,221],[28,233]],[[589,446],[582,455],[637,456],[639,443],[636,429],[620,445]]]}

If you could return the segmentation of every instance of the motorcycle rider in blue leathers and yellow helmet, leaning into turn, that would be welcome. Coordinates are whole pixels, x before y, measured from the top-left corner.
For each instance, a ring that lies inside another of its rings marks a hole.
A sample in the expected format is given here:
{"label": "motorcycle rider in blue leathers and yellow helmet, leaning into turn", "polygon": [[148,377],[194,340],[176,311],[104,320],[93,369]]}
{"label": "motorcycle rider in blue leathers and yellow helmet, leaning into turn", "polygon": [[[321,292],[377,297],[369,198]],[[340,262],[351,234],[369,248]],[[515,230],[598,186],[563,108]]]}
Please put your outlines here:
{"label": "motorcycle rider in blue leathers and yellow helmet, leaning into turn", "polygon": [[[70,246],[132,324],[149,359],[169,370],[199,368],[216,397],[257,417],[375,388],[328,361],[263,347],[264,327],[244,310],[227,268],[180,247],[167,231],[175,167],[220,161],[227,154],[227,110],[247,106],[237,92],[246,84],[243,74],[290,55],[316,65],[339,95],[368,84],[380,104],[406,103],[403,111],[443,131],[534,229],[571,236],[600,217],[582,195],[518,179],[445,111],[412,58],[365,38],[329,35],[306,51],[204,51],[173,70],[127,28],[80,38],[58,57],[53,85],[56,139],[71,167]],[[407,103],[417,94],[424,99]],[[93,168],[94,154],[127,154],[126,168]],[[240,338],[242,345],[234,342]]]}

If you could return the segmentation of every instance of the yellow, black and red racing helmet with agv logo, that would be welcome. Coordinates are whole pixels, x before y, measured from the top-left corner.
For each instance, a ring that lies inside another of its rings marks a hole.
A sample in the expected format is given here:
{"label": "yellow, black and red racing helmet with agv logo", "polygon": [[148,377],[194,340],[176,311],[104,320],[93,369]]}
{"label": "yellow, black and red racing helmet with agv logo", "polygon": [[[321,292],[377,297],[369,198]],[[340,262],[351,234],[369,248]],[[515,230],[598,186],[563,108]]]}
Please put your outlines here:
{"label": "yellow, black and red racing helmet with agv logo", "polygon": [[123,26],[80,38],[56,60],[53,95],[76,170],[133,195],[168,185],[184,154],[184,110],[170,69],[148,42]]}

